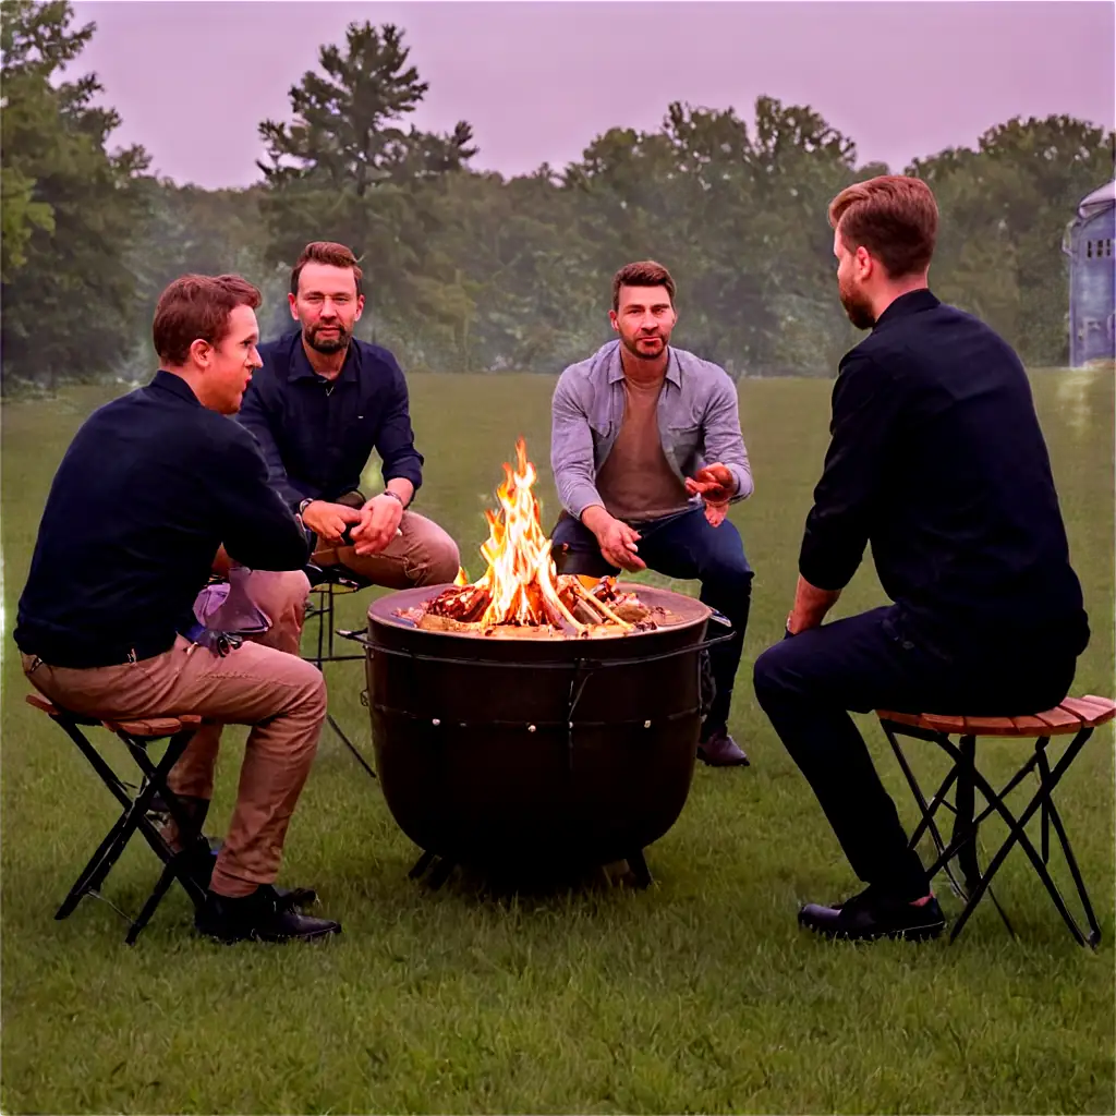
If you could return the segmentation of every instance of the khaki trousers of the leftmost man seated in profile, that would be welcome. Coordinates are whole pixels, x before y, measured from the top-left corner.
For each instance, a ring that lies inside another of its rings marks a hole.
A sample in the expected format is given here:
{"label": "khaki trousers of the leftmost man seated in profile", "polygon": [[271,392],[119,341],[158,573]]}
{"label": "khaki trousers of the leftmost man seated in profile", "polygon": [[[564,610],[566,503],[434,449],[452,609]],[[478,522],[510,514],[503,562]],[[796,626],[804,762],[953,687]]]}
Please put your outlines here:
{"label": "khaki trousers of the leftmost man seated in profile", "polygon": [[[181,636],[162,655],[117,666],[70,670],[28,655],[22,661],[31,683],[75,713],[108,720],[196,713],[251,725],[237,806],[210,886],[239,896],[275,881],[326,718],[326,683],[314,665],[256,643],[222,658]],[[184,756],[167,780],[173,790],[211,796],[215,734],[210,741],[211,751],[200,752],[191,742],[192,762]]]}

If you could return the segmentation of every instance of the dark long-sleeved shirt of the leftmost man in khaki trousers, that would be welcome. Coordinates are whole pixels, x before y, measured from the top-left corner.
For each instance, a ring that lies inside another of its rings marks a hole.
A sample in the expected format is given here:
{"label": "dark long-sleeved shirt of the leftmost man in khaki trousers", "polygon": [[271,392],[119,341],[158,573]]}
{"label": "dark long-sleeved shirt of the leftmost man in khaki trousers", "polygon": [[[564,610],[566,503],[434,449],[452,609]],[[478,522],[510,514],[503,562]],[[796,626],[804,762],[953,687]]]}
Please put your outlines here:
{"label": "dark long-sleeved shirt of the leftmost man in khaki trousers", "polygon": [[309,558],[251,436],[158,372],[95,411],[66,451],[16,643],[79,668],[162,654],[193,622],[221,543],[256,569],[299,569]]}

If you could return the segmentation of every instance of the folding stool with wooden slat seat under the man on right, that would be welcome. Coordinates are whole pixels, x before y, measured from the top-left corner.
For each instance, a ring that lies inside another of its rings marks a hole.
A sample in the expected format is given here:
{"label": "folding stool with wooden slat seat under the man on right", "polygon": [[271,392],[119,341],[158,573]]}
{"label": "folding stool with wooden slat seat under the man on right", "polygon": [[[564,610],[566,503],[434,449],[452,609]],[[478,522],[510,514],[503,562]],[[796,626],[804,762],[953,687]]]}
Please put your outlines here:
{"label": "folding stool with wooden slat seat under the man on right", "polygon": [[[1019,845],[1046,886],[1070,933],[1079,944],[1088,944],[1095,949],[1100,942],[1100,927],[1097,924],[1085,881],[1081,878],[1074,850],[1066,835],[1066,827],[1054,804],[1054,790],[1066,771],[1069,770],[1085,742],[1093,735],[1094,729],[1116,716],[1116,702],[1108,698],[1087,694],[1084,698],[1067,698],[1056,709],[1027,716],[945,716],[936,713],[898,713],[889,710],[877,710],[876,715],[879,718],[884,734],[895,752],[895,758],[898,760],[922,811],[922,819],[911,837],[911,847],[914,848],[917,845],[923,834],[930,833],[939,856],[927,874],[933,878],[944,869],[956,891],[966,901],[965,907],[950,934],[950,941],[956,939],[958,934],[961,933],[985,892],[989,893],[1000,912],[1009,933],[1014,933],[1002,907],[992,895],[991,884],[1008,854],[1016,845]],[[929,801],[915,779],[903,749],[899,747],[899,737],[911,737],[935,743],[953,761],[945,779]],[[951,737],[956,737],[958,742],[954,743],[950,739]],[[979,737],[1017,737],[1035,741],[1033,750],[999,791],[977,768],[977,739]],[[1052,737],[1072,737],[1061,757],[1054,763],[1051,763],[1051,757],[1047,752]],[[1038,789],[1017,818],[1008,809],[1004,799],[1031,772],[1038,777]],[[946,798],[951,790],[953,790],[952,802]],[[977,791],[980,791],[985,802],[984,809],[979,815],[975,812]],[[942,838],[935,822],[935,815],[943,806],[954,815],[953,831],[949,843]],[[1036,814],[1039,816],[1040,827],[1038,849],[1026,833],[1026,826]],[[992,815],[998,815],[1007,824],[1008,836],[1003,845],[992,855],[988,867],[982,873],[977,857],[978,831],[981,822]],[[1050,863],[1051,827],[1077,887],[1077,894],[1088,923],[1088,933],[1077,924],[1061,893],[1050,877],[1048,865]],[[961,869],[964,879],[963,886],[958,883],[951,870],[951,862],[954,859]]]}

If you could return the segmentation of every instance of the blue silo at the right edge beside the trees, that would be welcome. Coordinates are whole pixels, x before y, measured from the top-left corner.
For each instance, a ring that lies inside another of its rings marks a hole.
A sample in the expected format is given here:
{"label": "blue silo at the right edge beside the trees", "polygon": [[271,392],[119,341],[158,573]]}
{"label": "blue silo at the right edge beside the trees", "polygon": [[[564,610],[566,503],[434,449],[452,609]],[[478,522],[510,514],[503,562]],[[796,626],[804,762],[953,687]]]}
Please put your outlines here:
{"label": "blue silo at the right edge beside the trees", "polygon": [[1069,257],[1069,364],[1116,358],[1116,181],[1094,190],[1066,229]]}

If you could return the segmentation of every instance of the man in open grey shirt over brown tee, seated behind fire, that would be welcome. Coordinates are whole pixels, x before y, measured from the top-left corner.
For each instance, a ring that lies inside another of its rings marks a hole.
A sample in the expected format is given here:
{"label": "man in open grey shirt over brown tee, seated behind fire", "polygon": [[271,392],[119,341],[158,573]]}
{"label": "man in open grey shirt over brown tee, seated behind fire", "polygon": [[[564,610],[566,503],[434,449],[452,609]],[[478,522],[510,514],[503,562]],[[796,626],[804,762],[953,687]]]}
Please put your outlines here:
{"label": "man in open grey shirt over brown tee, seated behind fire", "polygon": [[609,320],[619,340],[568,367],[555,388],[555,562],[562,574],[650,568],[701,580],[701,599],[728,617],[733,637],[710,648],[716,693],[698,754],[713,767],[747,766],[728,729],[752,581],[725,519],[752,491],[737,389],[716,365],[671,347],[674,280],[661,264],[616,272]]}

